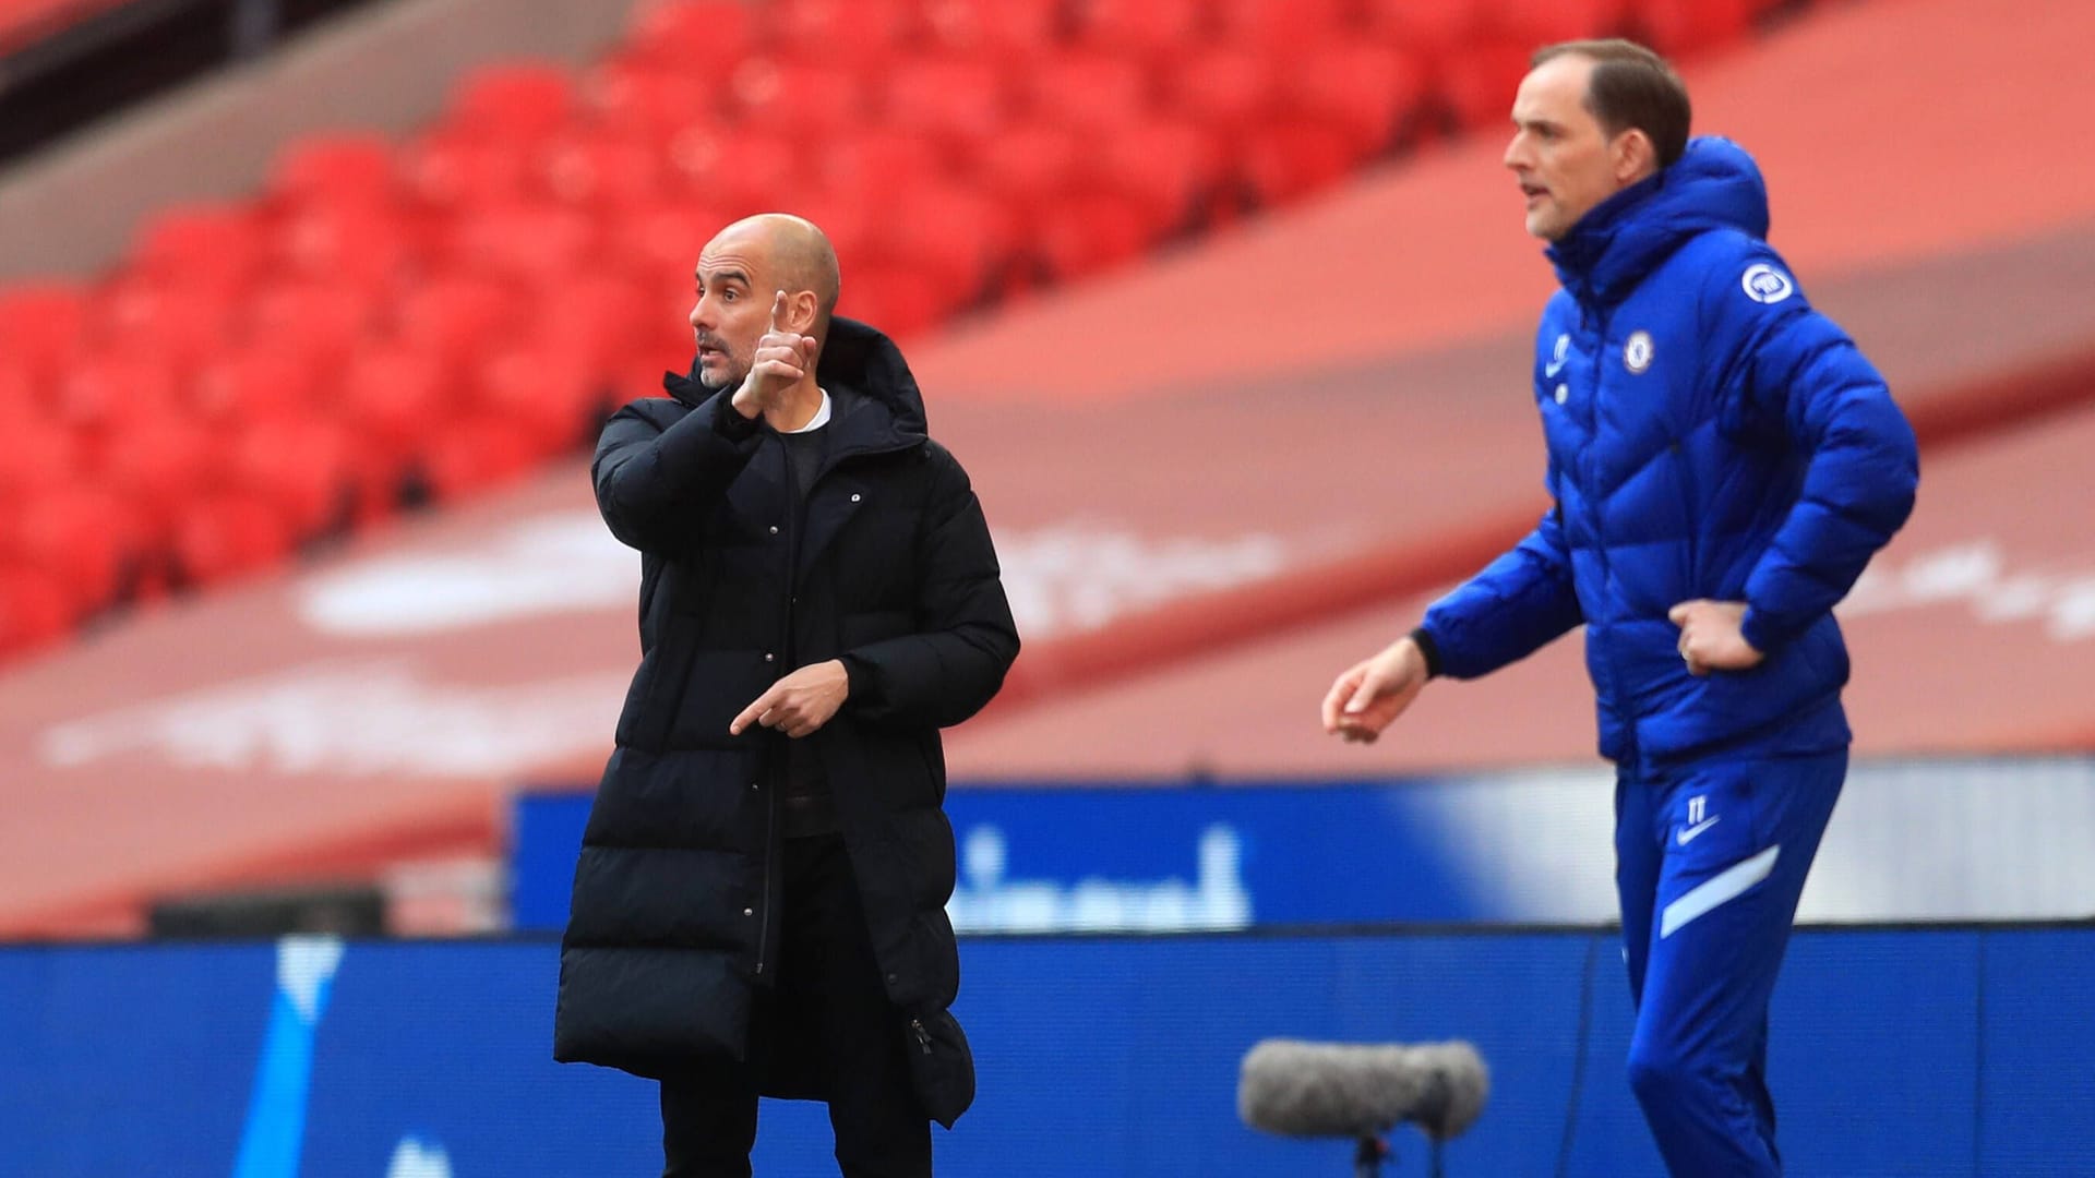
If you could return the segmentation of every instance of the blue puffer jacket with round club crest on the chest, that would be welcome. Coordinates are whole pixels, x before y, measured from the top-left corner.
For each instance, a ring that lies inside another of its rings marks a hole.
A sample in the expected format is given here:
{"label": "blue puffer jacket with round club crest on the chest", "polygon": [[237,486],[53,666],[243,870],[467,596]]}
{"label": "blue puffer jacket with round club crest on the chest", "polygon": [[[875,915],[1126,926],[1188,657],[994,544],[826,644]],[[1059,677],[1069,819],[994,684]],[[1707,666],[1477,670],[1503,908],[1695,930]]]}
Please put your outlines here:
{"label": "blue puffer jacket with round club crest on the chest", "polygon": [[[1722,138],[1588,212],[1548,249],[1536,335],[1554,507],[1433,604],[1435,669],[1475,677],[1586,623],[1601,755],[1848,744],[1833,604],[1913,509],[1913,430],[1764,241],[1768,193]],[[1666,612],[1747,602],[1766,660],[1695,677]]]}

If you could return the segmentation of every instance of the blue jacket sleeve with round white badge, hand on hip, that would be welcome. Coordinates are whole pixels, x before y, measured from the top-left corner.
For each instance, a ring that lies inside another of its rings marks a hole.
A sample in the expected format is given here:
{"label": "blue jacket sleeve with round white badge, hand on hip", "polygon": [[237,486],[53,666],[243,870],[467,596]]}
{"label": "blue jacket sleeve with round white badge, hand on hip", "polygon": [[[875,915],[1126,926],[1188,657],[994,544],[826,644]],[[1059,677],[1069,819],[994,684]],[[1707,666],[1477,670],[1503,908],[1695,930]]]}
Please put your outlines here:
{"label": "blue jacket sleeve with round white badge, hand on hip", "polygon": [[1774,252],[1720,268],[1714,285],[1716,337],[1741,348],[1739,411],[1804,459],[1798,499],[1745,579],[1741,635],[1766,652],[1846,597],[1906,522],[1919,449],[1883,377]]}

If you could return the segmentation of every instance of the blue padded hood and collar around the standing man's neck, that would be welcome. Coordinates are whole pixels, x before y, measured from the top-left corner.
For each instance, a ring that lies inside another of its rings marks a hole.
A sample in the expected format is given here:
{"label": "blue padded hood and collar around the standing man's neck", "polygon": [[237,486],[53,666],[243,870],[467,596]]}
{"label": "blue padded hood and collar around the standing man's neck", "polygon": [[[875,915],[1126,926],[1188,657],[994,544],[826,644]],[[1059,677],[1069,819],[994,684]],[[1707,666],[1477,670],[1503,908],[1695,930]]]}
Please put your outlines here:
{"label": "blue padded hood and collar around the standing man's neck", "polygon": [[1743,147],[1695,136],[1663,172],[1601,201],[1546,249],[1580,302],[1613,304],[1699,233],[1768,237],[1768,187]]}

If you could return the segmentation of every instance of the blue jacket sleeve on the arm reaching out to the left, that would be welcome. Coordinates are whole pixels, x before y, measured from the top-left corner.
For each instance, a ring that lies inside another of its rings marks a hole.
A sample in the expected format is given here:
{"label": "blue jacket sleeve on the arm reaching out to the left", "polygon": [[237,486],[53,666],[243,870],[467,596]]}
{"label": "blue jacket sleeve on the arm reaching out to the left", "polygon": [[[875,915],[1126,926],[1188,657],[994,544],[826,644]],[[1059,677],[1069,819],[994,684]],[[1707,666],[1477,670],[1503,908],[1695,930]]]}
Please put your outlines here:
{"label": "blue jacket sleeve on the arm reaching out to the left", "polygon": [[1582,620],[1563,507],[1552,503],[1527,539],[1433,602],[1414,633],[1435,675],[1475,679],[1527,658]]}

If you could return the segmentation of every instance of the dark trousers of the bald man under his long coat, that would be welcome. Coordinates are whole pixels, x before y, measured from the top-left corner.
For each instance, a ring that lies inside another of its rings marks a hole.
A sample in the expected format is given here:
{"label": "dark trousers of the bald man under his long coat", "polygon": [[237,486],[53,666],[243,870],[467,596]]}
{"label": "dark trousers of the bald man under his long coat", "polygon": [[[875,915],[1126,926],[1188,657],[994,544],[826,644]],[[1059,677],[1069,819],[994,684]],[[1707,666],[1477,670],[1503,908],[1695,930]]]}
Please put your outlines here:
{"label": "dark trousers of the bald man under his long coat", "polygon": [[750,1178],[763,1052],[807,1019],[844,1178],[930,1178],[930,1119],[909,1084],[903,1021],[880,983],[859,885],[836,834],[781,843],[777,991],[758,996],[750,1065],[662,1082],[662,1178]]}

